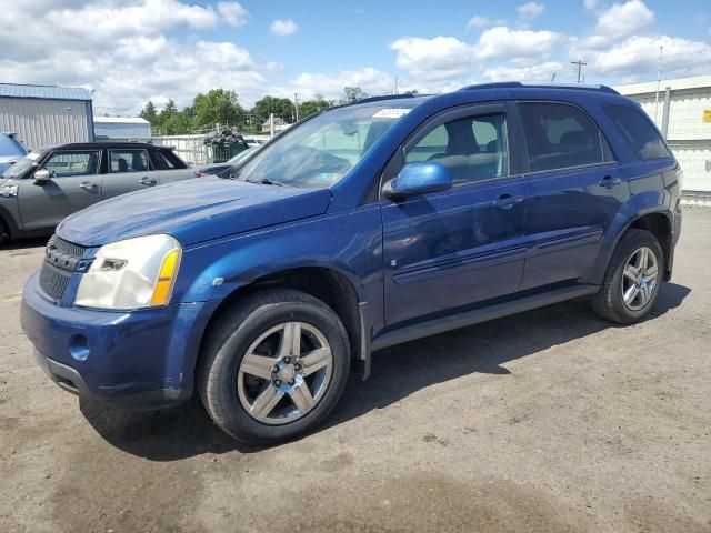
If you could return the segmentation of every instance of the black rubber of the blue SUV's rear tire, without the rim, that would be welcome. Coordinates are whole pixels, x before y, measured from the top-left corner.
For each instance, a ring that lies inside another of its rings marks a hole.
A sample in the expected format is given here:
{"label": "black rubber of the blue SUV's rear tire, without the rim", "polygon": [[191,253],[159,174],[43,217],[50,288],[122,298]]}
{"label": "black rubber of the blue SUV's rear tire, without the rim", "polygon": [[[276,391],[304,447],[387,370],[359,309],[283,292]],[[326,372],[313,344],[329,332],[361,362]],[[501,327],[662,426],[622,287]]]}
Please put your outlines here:
{"label": "black rubber of the blue SUV's rear tire, without the rim", "polygon": [[[639,310],[630,309],[622,294],[622,276],[630,258],[641,248],[651,250],[657,260],[657,282],[650,300]],[[600,291],[592,296],[592,309],[602,319],[618,324],[633,324],[654,306],[664,280],[664,253],[657,238],[645,230],[630,229],[618,243]]]}

